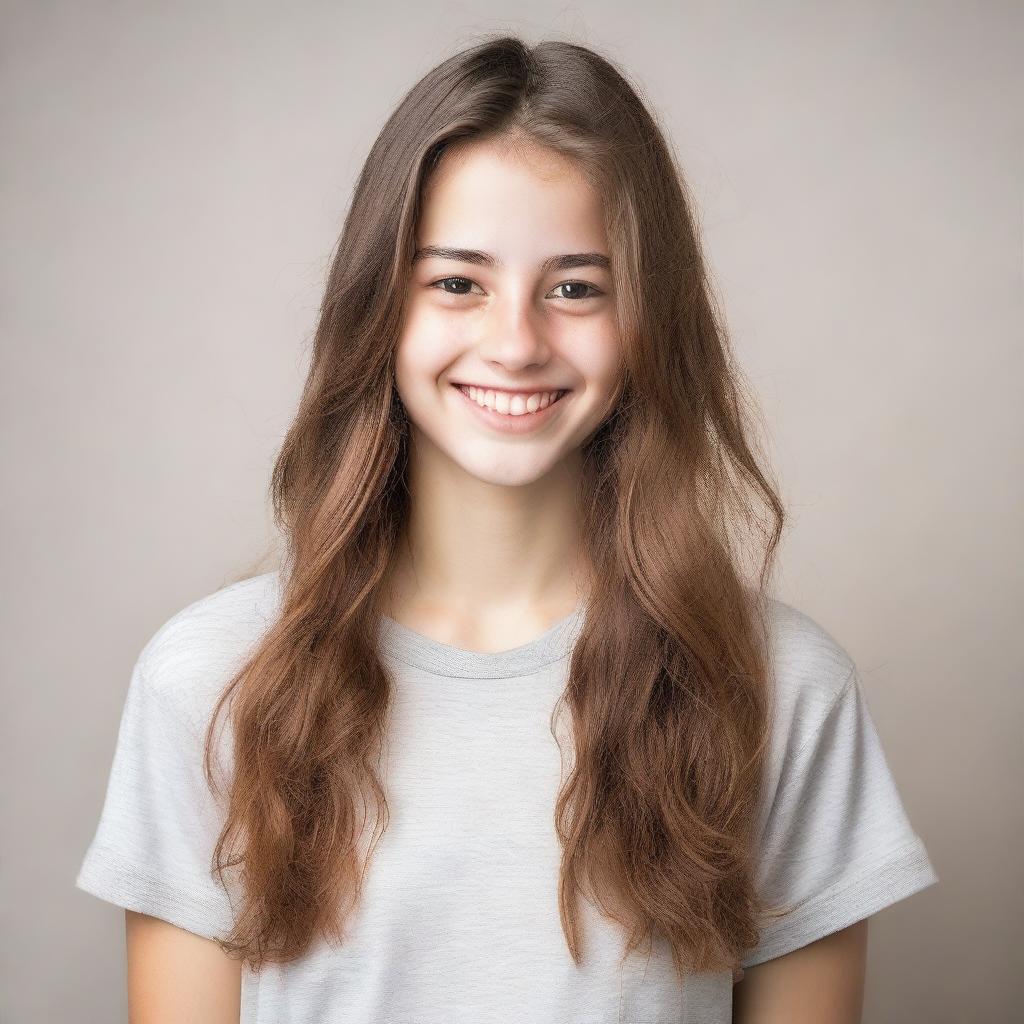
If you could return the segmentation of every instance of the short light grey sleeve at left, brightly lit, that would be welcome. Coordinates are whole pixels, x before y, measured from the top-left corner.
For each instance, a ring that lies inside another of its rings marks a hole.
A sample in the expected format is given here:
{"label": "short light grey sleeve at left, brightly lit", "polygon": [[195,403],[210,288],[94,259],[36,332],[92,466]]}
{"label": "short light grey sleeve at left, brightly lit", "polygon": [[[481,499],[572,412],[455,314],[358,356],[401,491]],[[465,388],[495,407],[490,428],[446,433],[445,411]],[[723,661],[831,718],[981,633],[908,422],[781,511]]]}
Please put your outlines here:
{"label": "short light grey sleeve at left, brightly lit", "polygon": [[205,729],[136,663],[99,822],[75,886],[212,939],[223,938],[232,919],[212,871],[223,816],[203,772],[204,741]]}

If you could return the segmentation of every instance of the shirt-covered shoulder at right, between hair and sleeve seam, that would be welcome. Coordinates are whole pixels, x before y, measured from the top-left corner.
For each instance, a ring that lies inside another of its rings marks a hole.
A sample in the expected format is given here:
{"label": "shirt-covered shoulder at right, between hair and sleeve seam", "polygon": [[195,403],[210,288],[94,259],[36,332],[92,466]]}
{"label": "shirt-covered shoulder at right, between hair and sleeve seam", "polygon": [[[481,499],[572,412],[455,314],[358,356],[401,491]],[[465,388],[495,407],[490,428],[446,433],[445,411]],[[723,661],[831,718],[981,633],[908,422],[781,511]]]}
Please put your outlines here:
{"label": "shirt-covered shoulder at right, between hair and sleeve seam", "polygon": [[856,685],[853,658],[817,620],[768,599],[768,650],[776,757],[813,740],[836,702]]}

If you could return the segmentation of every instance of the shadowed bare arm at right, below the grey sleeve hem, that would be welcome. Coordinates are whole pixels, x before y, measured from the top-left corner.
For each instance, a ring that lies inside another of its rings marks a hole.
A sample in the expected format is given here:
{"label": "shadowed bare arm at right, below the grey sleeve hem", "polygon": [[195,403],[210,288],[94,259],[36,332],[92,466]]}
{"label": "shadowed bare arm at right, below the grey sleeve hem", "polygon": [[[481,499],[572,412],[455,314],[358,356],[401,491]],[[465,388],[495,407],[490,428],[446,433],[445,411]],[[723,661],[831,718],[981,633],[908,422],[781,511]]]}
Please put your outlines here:
{"label": "shadowed bare arm at right, below the grey sleeve hem", "polygon": [[860,1024],[867,919],[746,968],[732,989],[733,1024]]}

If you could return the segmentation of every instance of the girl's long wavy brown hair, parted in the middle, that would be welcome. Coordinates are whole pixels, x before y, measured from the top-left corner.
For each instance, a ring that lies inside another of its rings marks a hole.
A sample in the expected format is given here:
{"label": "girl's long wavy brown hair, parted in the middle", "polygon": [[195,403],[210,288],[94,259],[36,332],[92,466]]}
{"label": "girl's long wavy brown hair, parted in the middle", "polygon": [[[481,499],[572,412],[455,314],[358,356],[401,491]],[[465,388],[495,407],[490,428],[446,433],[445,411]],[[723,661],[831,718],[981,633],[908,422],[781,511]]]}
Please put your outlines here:
{"label": "girl's long wavy brown hair, parted in the middle", "polygon": [[[593,566],[560,703],[573,734],[555,821],[573,959],[578,898],[664,935],[683,971],[735,969],[769,908],[753,833],[769,735],[763,601],[783,520],[748,436],[755,411],[714,305],[692,200],[624,74],[584,46],[486,37],[388,118],[338,242],[308,379],[272,474],[287,538],[280,614],[217,701],[232,778],[214,853],[242,897],[221,947],[263,963],[341,941],[387,804],[376,764],[392,680],[377,647],[408,511],[393,362],[424,183],[445,148],[525,140],[605,203],[624,378],[583,451]],[[760,554],[759,554],[760,553]],[[755,556],[751,565],[744,558]],[[760,565],[759,565],[760,561]]]}

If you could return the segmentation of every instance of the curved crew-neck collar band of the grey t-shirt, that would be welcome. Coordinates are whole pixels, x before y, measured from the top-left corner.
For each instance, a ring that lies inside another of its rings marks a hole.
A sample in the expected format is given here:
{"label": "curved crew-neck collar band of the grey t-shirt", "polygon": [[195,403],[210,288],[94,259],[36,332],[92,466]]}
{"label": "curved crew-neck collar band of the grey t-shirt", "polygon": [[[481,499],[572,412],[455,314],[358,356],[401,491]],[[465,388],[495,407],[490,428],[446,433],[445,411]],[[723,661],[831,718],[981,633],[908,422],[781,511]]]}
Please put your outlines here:
{"label": "curved crew-neck collar band of the grey t-shirt", "polygon": [[581,602],[563,618],[540,636],[507,650],[467,650],[441,643],[390,615],[380,620],[379,642],[382,654],[402,665],[436,676],[459,679],[510,679],[528,676],[554,662],[567,657],[579,636],[586,614]]}

